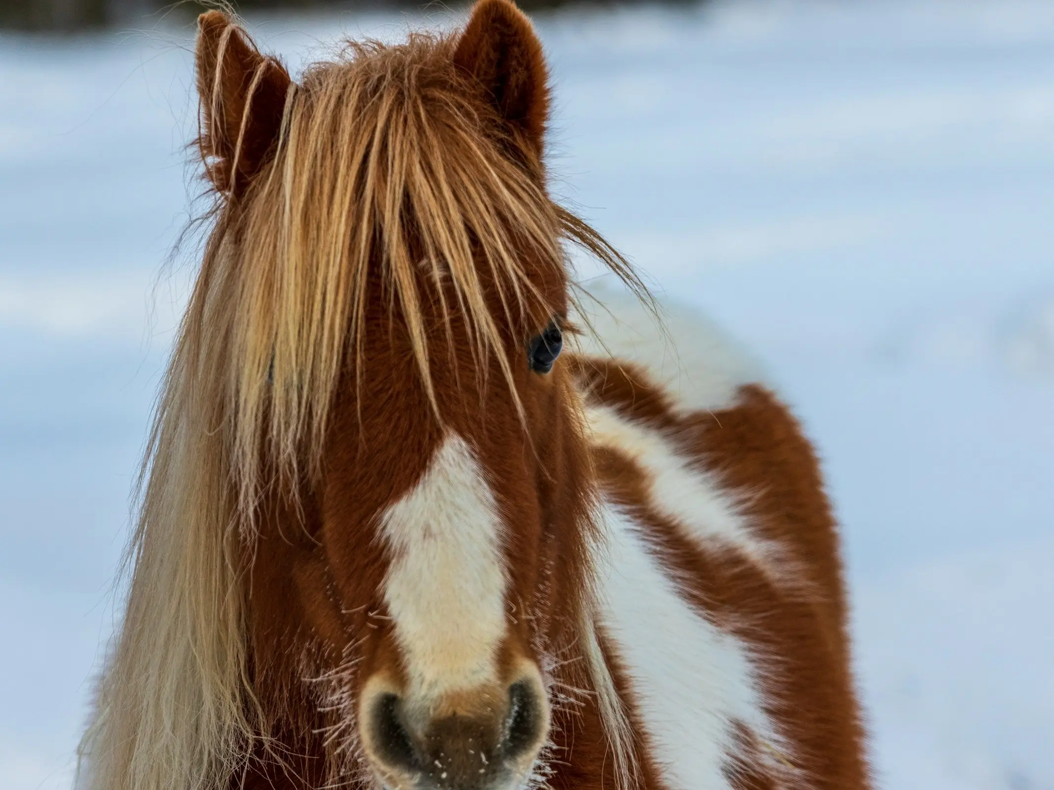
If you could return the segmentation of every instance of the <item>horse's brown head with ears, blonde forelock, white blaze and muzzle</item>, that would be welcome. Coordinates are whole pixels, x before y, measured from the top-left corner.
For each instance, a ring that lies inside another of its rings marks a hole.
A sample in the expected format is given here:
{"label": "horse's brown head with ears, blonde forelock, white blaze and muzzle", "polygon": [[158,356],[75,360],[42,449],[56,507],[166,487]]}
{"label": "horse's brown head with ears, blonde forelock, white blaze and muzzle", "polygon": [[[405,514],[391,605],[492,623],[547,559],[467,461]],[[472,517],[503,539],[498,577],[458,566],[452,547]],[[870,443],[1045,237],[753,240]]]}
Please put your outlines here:
{"label": "horse's brown head with ears, blonde forelock, white blaze and muzzle", "polygon": [[197,68],[264,718],[387,787],[519,787],[589,587],[562,242],[628,271],[547,193],[541,44],[484,0],[294,83],[212,12]]}

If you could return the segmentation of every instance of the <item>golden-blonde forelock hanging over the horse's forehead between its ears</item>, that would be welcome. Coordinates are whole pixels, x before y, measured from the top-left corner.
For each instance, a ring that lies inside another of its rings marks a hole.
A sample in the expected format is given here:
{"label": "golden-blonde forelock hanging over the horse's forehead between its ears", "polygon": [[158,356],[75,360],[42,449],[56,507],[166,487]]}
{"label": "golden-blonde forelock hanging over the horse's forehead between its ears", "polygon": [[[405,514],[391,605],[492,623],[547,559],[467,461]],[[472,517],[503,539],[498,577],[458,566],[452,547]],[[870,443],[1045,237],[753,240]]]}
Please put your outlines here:
{"label": "golden-blonde forelock hanging over the horse's forehead between its ears", "polygon": [[[273,163],[230,229],[240,240],[228,265],[245,481],[261,439],[292,462],[321,446],[346,355],[362,353],[377,274],[434,408],[429,300],[448,328],[453,313],[464,318],[476,356],[493,354],[511,386],[502,324],[541,299],[524,259],[562,271],[568,223],[541,166],[508,155],[512,140],[451,51],[450,39],[425,35],[349,44],[290,94]],[[487,297],[494,285],[504,317]]]}

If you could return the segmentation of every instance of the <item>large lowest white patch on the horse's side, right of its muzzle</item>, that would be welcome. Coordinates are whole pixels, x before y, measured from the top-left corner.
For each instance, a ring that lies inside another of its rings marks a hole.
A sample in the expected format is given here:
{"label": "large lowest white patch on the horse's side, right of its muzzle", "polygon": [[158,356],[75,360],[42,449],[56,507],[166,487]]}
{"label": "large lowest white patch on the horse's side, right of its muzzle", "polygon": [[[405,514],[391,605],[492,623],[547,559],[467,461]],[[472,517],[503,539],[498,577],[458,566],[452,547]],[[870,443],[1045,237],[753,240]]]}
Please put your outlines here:
{"label": "large lowest white patch on the horse's side, right of its muzzle", "polygon": [[684,599],[648,550],[643,528],[610,503],[601,517],[600,620],[628,675],[663,784],[731,790],[724,767],[737,752],[735,723],[765,743],[780,743],[762,706],[749,647]]}

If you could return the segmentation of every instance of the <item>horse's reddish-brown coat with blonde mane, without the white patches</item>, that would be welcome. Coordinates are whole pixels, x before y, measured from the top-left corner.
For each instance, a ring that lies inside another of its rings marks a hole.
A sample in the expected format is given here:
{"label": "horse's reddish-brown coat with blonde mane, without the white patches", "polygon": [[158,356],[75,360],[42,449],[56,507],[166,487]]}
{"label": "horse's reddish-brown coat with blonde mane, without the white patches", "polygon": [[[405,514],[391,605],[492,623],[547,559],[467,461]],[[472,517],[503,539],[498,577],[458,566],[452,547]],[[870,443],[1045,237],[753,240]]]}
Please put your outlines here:
{"label": "horse's reddish-brown coat with blonde mane, without the white patches", "polygon": [[[639,281],[546,192],[547,72],[515,6],[482,0],[456,38],[349,44],[299,84],[211,12],[198,88],[217,219],[148,458],[87,787],[370,787],[387,769],[360,732],[364,689],[409,684],[378,514],[452,434],[502,517],[507,631],[497,685],[437,699],[430,733],[458,749],[490,737],[506,687],[536,665],[553,708],[549,786],[662,787],[631,680],[593,625],[604,495],[690,579],[700,614],[777,665],[767,712],[794,747],[786,775],[866,787],[837,539],[794,419],[758,388],[719,414],[682,414],[630,366],[526,364],[529,338],[571,308],[562,241]],[[584,401],[754,493],[758,529],[803,584],[685,540],[632,461],[590,446]],[[746,728],[737,740],[735,785],[776,787],[766,750],[782,759],[781,747]],[[486,786],[451,765],[457,787]]]}

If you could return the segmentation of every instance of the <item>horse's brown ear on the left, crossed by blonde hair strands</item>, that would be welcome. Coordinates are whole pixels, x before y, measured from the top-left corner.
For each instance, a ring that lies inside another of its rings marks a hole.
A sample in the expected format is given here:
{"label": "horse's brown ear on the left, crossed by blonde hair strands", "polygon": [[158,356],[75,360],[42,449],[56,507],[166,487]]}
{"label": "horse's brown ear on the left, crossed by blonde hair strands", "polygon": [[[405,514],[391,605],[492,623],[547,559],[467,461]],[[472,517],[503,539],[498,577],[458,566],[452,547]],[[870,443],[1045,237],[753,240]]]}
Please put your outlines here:
{"label": "horse's brown ear on the left, crossed by blonde hair strands", "polygon": [[278,140],[292,81],[276,58],[260,55],[218,11],[198,17],[196,58],[201,154],[216,189],[237,193]]}

